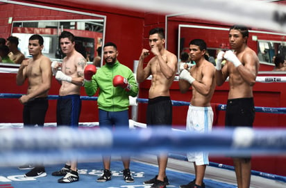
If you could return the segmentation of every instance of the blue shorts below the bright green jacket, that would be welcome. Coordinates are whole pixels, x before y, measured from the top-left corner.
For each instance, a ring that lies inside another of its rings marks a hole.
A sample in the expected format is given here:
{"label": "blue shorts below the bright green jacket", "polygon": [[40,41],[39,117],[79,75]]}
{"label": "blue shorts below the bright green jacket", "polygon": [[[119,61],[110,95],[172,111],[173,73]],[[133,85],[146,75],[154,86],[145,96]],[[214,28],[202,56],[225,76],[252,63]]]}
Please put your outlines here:
{"label": "blue shorts below the bright green jacket", "polygon": [[123,127],[129,128],[128,110],[105,111],[99,109],[99,127]]}

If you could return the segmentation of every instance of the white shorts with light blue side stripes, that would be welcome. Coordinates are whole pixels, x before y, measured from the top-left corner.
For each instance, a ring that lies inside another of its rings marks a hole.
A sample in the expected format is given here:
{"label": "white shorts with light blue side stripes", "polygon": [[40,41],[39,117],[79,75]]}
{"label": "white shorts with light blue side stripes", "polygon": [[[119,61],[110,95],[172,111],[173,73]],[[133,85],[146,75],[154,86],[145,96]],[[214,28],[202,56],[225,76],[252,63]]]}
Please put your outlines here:
{"label": "white shorts with light blue side stripes", "polygon": [[[190,105],[187,111],[187,127],[190,132],[211,132],[214,113],[212,107],[194,107]],[[187,152],[187,160],[196,165],[209,164],[208,152]]]}

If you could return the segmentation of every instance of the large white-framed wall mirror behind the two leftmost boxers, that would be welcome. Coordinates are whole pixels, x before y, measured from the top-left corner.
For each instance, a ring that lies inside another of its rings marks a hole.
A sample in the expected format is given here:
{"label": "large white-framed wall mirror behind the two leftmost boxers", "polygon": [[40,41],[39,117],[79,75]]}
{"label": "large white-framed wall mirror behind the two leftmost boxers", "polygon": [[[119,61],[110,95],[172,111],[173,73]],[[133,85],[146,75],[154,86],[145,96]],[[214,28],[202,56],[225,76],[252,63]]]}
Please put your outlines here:
{"label": "large white-framed wall mirror behind the two leftmost boxers", "polygon": [[[65,56],[60,50],[58,39],[62,31],[74,34],[76,50],[90,63],[99,55],[97,49],[104,42],[106,16],[31,3],[9,3],[14,6],[10,34],[19,38],[18,47],[26,57],[29,57],[28,38],[37,33],[44,38],[43,54],[52,61],[60,61]],[[25,15],[15,16],[19,10],[25,10]],[[97,67],[101,65],[102,61],[96,64]]]}

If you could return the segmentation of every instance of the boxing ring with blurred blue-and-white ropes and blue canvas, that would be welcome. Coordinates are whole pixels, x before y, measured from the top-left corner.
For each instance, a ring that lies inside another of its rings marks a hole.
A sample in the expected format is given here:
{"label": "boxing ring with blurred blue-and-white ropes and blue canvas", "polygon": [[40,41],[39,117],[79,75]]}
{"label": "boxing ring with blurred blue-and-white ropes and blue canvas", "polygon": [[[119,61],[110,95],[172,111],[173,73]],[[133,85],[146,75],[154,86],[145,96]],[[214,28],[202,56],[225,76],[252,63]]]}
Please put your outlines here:
{"label": "boxing ring with blurred blue-and-white ropes and blue canvas", "polygon": [[[258,78],[259,79],[259,78]],[[263,81],[274,81],[271,77]],[[280,79],[279,81],[282,81]],[[19,98],[22,94],[0,93],[0,100],[4,98]],[[58,95],[49,95],[49,100],[56,100]],[[97,100],[97,97],[81,96],[81,100]],[[139,103],[148,100],[137,98]],[[189,102],[172,100],[174,106],[188,106]],[[218,104],[217,110],[224,111],[225,104]],[[286,108],[255,107],[255,111],[262,113],[284,114]],[[158,171],[155,155],[159,151],[169,152],[167,175],[171,183],[169,187],[178,187],[194,178],[194,169],[184,155],[187,151],[204,150],[210,155],[281,155],[286,154],[286,129],[249,129],[214,127],[211,133],[196,134],[177,129],[146,128],[144,123],[129,120],[131,130],[117,129],[116,132],[98,129],[98,123],[80,123],[78,130],[67,127],[56,127],[56,123],[45,123],[44,129],[25,128],[22,123],[0,123],[0,187],[37,187],[36,182],[44,184],[53,181],[58,185],[58,177],[51,176],[51,171],[60,169],[67,159],[78,159],[80,181],[69,184],[77,187],[85,180],[92,187],[96,177],[102,173],[101,154],[115,156],[112,159],[112,177],[108,184],[98,184],[96,187],[144,187],[142,182],[153,178]],[[11,129],[12,127],[12,129]],[[182,127],[183,128],[183,127]],[[158,136],[158,132],[160,135]],[[243,133],[243,134],[242,134]],[[269,136],[272,135],[272,136]],[[71,139],[73,138],[73,139]],[[121,154],[132,156],[131,171],[135,182],[128,184],[122,180]],[[17,165],[26,162],[44,162],[47,178],[23,178],[24,172],[17,169]],[[113,171],[114,169],[114,171]],[[138,171],[139,170],[139,171]],[[230,175],[229,171],[233,171]],[[19,175],[21,174],[22,175]],[[6,175],[5,175],[6,174]],[[251,187],[271,185],[272,187],[286,186],[286,177],[260,171],[251,171]],[[95,175],[95,176],[94,176]],[[178,178],[180,177],[180,178]],[[224,178],[222,178],[224,177]],[[48,180],[47,180],[48,179]],[[54,180],[53,180],[54,179]],[[117,180],[118,179],[118,180]],[[2,180],[2,181],[1,181]],[[187,181],[186,181],[187,180]],[[11,184],[2,184],[11,182]],[[207,187],[235,187],[235,173],[233,166],[210,162],[205,172]],[[117,184],[121,184],[118,186]]]}

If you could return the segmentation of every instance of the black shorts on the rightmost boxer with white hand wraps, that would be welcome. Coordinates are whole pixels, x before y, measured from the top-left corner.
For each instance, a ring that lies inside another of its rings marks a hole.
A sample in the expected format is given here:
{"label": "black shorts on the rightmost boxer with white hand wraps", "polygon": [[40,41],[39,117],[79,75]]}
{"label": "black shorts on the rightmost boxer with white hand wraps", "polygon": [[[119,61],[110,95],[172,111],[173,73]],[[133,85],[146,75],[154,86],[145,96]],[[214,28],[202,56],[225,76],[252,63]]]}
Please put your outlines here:
{"label": "black shorts on the rightmost boxer with white hand wraps", "polygon": [[226,127],[253,127],[255,108],[253,97],[228,100]]}

